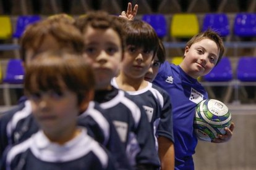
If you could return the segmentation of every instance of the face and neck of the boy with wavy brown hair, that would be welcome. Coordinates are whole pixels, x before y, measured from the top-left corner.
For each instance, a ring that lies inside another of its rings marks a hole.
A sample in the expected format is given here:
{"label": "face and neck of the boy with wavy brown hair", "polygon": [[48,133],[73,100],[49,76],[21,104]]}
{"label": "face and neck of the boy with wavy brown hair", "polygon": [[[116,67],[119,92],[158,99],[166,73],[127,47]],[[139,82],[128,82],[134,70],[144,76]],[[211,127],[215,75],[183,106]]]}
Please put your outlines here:
{"label": "face and neck of the boy with wavy brown hair", "polygon": [[97,89],[110,86],[111,79],[117,75],[122,59],[121,38],[112,28],[106,30],[88,26],[83,33],[85,41],[84,57],[92,62]]}

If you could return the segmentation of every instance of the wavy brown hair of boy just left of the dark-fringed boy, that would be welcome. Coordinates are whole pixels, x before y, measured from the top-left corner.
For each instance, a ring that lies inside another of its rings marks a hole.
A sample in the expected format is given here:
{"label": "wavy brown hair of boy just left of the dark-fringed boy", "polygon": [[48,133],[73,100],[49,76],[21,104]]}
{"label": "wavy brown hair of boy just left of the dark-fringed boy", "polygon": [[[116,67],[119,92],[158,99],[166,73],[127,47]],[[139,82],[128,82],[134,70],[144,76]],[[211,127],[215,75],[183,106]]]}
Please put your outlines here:
{"label": "wavy brown hair of boy just left of the dark-fringed boy", "polygon": [[109,15],[103,11],[89,12],[88,14],[77,18],[75,21],[75,26],[77,26],[82,33],[87,31],[88,26],[101,30],[106,30],[108,28],[113,29],[121,39],[122,56],[124,56],[125,37],[122,23],[115,19],[112,15]]}

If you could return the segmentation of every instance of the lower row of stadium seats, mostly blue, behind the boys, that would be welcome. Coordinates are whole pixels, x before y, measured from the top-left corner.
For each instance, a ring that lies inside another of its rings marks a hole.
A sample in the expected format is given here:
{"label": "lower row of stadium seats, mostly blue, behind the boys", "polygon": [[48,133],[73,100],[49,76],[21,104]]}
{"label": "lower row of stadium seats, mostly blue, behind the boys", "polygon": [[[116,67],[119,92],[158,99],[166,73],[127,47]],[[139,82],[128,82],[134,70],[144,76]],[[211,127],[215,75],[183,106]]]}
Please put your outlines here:
{"label": "lower row of stadium seats, mostly blue, behind the boys", "polygon": [[[179,65],[182,57],[173,57],[172,63]],[[211,72],[202,79],[203,86],[256,86],[256,57],[240,57],[233,71],[229,57],[223,57]],[[235,72],[235,73],[233,73]],[[0,87],[5,91],[10,88],[22,87],[24,70],[20,59],[10,59],[7,63],[6,73],[0,69]],[[231,92],[229,92],[230,95]],[[228,97],[229,99],[230,97]],[[11,97],[4,92],[4,102],[11,105]],[[226,100],[228,100],[226,99]],[[228,101],[224,101],[228,102]]]}

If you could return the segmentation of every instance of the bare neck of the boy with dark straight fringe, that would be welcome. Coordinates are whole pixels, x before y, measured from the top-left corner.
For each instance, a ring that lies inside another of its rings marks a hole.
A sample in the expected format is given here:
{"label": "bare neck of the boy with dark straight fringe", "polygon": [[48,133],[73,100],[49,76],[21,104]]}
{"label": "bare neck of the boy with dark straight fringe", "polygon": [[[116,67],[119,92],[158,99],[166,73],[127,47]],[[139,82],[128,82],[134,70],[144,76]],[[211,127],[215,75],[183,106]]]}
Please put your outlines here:
{"label": "bare neck of the boy with dark straight fringe", "polygon": [[148,86],[148,82],[144,78],[129,78],[124,73],[117,76],[116,83],[119,89],[124,91],[139,91]]}

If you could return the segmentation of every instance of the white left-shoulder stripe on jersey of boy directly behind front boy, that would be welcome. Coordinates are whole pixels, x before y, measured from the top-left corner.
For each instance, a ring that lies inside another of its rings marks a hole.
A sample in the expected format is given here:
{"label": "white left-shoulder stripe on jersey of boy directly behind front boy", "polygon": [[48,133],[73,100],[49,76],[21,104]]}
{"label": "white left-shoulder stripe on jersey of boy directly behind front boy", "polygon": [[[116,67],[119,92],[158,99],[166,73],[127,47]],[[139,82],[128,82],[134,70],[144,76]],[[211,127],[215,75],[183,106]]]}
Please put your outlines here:
{"label": "white left-shoulder stripe on jersey of boy directly behind front boy", "polygon": [[25,101],[25,107],[17,111],[14,116],[12,117],[11,121],[7,124],[6,132],[7,136],[10,138],[12,136],[12,131],[14,131],[15,127],[17,126],[17,123],[23,119],[29,116],[32,113],[32,107],[29,100]]}

